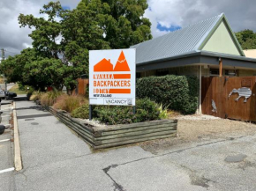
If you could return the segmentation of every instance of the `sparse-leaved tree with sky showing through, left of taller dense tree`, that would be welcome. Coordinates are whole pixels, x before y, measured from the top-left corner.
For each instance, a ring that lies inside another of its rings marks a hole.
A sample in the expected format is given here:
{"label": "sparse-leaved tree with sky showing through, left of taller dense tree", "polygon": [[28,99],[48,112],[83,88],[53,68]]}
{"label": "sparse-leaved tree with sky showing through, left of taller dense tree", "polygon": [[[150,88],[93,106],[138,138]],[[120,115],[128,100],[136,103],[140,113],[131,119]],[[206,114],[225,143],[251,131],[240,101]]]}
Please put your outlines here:
{"label": "sparse-leaved tree with sky showing through, left of taller dense tree", "polygon": [[33,40],[32,45],[38,53],[49,58],[59,58],[63,53],[63,47],[60,44],[62,40],[62,26],[58,21],[60,15],[64,12],[59,2],[43,5],[40,14],[44,17],[35,18],[33,15],[19,15],[20,27],[28,26],[34,28],[28,36]]}

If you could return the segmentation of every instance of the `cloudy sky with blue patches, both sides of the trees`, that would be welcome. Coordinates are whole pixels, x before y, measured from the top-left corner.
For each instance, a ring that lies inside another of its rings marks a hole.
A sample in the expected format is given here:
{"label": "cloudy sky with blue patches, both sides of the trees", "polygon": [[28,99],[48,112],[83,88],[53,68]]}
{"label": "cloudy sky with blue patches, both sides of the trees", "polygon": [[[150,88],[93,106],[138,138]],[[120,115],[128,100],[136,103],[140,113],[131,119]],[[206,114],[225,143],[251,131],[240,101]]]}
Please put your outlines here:
{"label": "cloudy sky with blue patches, both sides of the trees", "polygon": [[[60,0],[65,9],[73,9],[80,0]],[[5,56],[19,54],[31,47],[31,30],[20,28],[20,13],[39,17],[39,10],[49,0],[0,0],[0,48]],[[149,18],[153,37],[192,23],[225,13],[234,32],[252,29],[256,32],[255,0],[147,0],[144,17]]]}

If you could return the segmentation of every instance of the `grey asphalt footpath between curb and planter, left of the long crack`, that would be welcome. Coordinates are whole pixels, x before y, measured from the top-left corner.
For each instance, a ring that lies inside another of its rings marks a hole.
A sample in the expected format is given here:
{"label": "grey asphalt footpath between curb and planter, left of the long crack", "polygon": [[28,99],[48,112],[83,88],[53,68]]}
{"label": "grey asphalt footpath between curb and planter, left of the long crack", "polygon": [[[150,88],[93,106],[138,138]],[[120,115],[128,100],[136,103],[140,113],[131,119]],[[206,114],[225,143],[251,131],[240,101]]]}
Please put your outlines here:
{"label": "grey asphalt footpath between curb and planter, left of the long crack", "polygon": [[140,147],[93,153],[49,112],[33,102],[16,102],[24,169],[15,175],[17,190],[114,190],[104,172],[112,164],[152,156]]}

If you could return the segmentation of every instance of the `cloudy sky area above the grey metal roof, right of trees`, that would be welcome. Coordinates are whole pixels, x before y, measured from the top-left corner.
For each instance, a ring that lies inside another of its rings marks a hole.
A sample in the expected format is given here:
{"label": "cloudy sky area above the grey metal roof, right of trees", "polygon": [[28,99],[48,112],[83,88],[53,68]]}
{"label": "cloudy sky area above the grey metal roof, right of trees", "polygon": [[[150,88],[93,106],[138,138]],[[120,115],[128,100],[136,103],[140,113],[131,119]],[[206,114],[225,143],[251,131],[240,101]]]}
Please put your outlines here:
{"label": "cloudy sky area above the grey metal roof, right of trees", "polygon": [[154,37],[166,33],[157,29],[158,23],[166,27],[183,27],[222,12],[235,32],[246,28],[256,31],[255,0],[148,0],[147,3],[144,16],[152,22]]}

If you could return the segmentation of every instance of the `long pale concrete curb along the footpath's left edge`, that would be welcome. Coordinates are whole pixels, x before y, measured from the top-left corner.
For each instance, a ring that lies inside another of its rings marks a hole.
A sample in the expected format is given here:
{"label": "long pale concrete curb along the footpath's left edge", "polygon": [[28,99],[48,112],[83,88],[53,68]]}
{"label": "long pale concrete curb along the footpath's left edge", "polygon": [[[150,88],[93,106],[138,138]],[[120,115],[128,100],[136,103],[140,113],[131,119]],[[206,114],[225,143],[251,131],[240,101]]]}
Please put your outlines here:
{"label": "long pale concrete curb along the footpath's left edge", "polygon": [[16,113],[16,103],[13,102],[13,125],[14,125],[14,166],[16,171],[22,170],[21,151],[19,144],[19,129]]}

